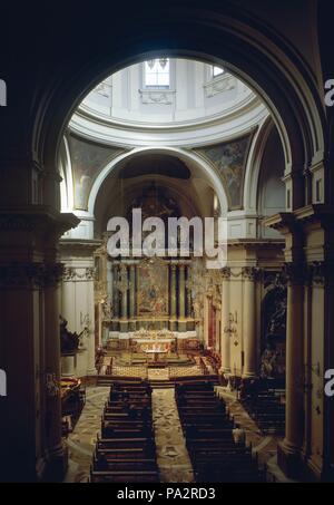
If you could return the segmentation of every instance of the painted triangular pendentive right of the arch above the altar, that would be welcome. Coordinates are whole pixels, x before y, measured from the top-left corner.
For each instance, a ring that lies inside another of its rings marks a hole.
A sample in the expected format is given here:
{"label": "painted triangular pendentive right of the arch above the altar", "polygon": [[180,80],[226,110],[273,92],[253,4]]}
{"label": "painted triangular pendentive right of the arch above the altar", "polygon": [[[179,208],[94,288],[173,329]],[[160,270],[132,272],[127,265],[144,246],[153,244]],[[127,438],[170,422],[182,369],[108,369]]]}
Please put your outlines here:
{"label": "painted triangular pendentive right of the arch above the altar", "polygon": [[237,140],[196,149],[209,161],[222,178],[229,210],[243,207],[244,178],[253,134]]}

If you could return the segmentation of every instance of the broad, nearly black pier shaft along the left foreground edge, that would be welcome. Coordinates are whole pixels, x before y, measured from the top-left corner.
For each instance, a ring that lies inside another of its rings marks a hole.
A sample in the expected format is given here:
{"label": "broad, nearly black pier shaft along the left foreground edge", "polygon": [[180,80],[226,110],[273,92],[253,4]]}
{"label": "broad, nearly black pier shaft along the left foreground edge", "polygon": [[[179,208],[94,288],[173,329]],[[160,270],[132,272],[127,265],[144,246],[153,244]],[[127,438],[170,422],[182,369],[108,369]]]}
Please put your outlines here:
{"label": "broad, nearly black pier shaft along the left foreground edge", "polygon": [[[9,262],[1,264],[0,368],[7,373],[7,396],[0,398],[0,454],[6,462],[1,465],[2,482],[38,480],[46,467],[42,289],[31,276],[35,268],[37,263],[28,261],[17,263],[14,269]],[[13,338],[19,339],[17,343]]]}

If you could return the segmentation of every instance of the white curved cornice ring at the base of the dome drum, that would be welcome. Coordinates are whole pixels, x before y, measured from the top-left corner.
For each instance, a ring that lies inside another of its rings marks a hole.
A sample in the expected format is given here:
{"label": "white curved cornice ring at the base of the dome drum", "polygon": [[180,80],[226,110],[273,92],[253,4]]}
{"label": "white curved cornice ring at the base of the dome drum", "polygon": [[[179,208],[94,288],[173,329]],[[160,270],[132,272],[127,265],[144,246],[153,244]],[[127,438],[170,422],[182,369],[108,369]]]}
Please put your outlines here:
{"label": "white curved cornice ring at the base of the dome drum", "polygon": [[[148,93],[153,94],[153,90]],[[174,94],[170,90],[158,91],[159,95],[165,93]],[[217,142],[230,142],[246,135],[267,116],[267,108],[253,93],[220,113],[196,119],[175,120],[170,124],[107,118],[97,116],[81,105],[71,117],[69,130],[87,140],[112,144],[126,149],[148,145],[193,149]],[[177,139],[175,134],[178,134]]]}

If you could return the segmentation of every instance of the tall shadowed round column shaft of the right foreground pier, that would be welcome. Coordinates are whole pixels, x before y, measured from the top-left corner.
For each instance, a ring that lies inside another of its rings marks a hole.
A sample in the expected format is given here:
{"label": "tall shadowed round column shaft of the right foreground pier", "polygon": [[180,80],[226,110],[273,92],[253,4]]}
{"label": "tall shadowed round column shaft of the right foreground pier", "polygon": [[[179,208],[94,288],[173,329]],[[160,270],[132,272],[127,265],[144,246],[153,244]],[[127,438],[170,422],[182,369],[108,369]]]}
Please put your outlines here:
{"label": "tall shadowed round column shaft of the right foreground pier", "polygon": [[298,469],[304,434],[303,273],[303,265],[286,264],[286,414],[285,438],[278,445],[277,460],[291,477],[296,476]]}

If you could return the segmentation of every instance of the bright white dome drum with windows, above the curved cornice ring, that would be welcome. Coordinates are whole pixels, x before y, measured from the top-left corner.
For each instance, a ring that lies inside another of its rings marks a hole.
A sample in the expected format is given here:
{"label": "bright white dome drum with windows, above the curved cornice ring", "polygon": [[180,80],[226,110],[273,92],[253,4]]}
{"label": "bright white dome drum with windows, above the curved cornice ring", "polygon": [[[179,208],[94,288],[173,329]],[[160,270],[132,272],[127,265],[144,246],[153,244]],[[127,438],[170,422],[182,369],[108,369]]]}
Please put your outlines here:
{"label": "bright white dome drum with windows, above the curved cornice ring", "polygon": [[220,67],[160,57],[109,76],[79,110],[112,124],[173,127],[222,117],[252,98],[250,89]]}

